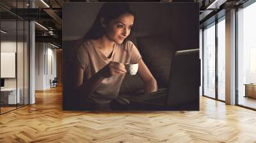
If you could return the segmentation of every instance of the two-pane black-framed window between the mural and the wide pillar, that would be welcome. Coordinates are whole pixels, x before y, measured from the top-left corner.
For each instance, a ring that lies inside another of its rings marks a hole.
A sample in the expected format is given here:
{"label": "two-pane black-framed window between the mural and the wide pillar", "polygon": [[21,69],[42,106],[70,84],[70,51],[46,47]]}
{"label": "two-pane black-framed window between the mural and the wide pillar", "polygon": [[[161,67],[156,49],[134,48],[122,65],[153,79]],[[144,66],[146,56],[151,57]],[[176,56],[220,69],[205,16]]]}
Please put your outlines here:
{"label": "two-pane black-framed window between the mural and the wide pillar", "polygon": [[204,28],[203,43],[203,94],[225,101],[225,15]]}

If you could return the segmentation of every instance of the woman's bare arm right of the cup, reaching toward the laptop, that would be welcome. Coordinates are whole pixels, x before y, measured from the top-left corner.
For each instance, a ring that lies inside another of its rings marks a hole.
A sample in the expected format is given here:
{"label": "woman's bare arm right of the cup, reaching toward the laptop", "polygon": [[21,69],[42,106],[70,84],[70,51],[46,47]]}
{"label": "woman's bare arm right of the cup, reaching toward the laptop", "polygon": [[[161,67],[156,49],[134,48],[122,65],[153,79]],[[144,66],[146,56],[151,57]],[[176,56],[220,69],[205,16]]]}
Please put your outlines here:
{"label": "woman's bare arm right of the cup, reaching toward the laptop", "polygon": [[157,91],[157,82],[156,79],[153,77],[152,73],[148,70],[148,67],[141,59],[139,61],[139,69],[138,74],[140,75],[141,80],[143,80],[145,87],[145,93],[151,93]]}

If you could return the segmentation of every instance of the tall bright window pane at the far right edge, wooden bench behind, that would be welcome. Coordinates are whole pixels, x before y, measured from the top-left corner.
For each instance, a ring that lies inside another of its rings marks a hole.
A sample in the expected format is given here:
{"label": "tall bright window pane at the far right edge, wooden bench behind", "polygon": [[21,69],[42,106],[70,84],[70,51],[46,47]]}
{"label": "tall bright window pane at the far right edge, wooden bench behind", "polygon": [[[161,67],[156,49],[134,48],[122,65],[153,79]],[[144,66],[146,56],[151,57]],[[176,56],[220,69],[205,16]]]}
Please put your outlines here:
{"label": "tall bright window pane at the far right edge, wooden bench behind", "polygon": [[238,104],[256,109],[256,3],[241,9],[238,16]]}

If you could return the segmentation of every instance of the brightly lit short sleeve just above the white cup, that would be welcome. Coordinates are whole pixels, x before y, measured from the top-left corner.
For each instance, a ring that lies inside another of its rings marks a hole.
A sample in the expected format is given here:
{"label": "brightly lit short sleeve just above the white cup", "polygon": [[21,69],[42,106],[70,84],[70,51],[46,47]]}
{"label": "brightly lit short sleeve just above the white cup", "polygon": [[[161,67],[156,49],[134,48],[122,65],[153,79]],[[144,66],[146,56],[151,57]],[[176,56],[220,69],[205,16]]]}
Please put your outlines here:
{"label": "brightly lit short sleeve just above the white cup", "polygon": [[127,46],[129,47],[131,59],[130,63],[138,63],[141,59],[141,54],[137,47],[132,43],[132,41],[127,41]]}

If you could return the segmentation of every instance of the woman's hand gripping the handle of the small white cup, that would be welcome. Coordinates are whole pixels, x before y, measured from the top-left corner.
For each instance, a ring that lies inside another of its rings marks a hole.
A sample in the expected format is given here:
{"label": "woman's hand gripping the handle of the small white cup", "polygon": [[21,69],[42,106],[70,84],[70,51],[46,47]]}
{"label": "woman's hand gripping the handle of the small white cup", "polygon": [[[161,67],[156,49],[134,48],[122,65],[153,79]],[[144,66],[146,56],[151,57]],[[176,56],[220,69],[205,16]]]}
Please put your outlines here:
{"label": "woman's hand gripping the handle of the small white cup", "polygon": [[112,77],[114,75],[123,75],[127,71],[125,65],[115,61],[110,61],[104,68],[102,68],[102,75],[104,77]]}

